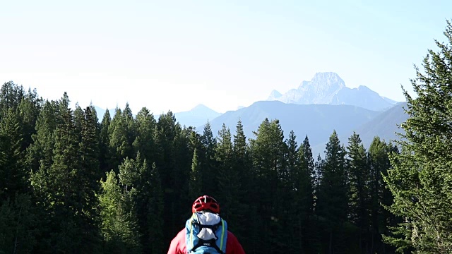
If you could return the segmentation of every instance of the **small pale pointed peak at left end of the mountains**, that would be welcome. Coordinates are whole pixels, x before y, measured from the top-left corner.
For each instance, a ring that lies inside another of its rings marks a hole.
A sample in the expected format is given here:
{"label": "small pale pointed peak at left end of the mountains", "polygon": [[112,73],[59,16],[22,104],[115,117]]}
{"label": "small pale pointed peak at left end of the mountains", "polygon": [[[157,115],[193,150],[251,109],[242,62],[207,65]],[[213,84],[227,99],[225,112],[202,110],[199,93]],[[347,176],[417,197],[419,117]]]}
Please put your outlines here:
{"label": "small pale pointed peak at left end of the mountains", "polygon": [[[221,113],[218,113],[213,109],[209,109],[203,104],[198,104],[196,107],[189,111],[174,113],[176,120],[181,124],[181,126],[194,127],[206,124],[207,121],[212,121],[220,115]],[[156,116],[156,118],[158,119],[158,116]]]}

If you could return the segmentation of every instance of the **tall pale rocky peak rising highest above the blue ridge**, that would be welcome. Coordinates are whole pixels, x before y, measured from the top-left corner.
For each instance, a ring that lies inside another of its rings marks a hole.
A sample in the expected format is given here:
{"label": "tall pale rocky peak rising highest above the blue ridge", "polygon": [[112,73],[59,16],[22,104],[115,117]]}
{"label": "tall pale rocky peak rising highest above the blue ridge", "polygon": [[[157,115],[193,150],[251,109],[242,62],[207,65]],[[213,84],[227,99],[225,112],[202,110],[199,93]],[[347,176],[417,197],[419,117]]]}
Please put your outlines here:
{"label": "tall pale rocky peak rising highest above the blue ridge", "polygon": [[393,100],[381,97],[364,85],[346,87],[344,80],[333,72],[316,73],[311,81],[303,81],[297,89],[278,94],[273,90],[267,100],[292,104],[352,105],[374,111],[383,111],[394,104]]}

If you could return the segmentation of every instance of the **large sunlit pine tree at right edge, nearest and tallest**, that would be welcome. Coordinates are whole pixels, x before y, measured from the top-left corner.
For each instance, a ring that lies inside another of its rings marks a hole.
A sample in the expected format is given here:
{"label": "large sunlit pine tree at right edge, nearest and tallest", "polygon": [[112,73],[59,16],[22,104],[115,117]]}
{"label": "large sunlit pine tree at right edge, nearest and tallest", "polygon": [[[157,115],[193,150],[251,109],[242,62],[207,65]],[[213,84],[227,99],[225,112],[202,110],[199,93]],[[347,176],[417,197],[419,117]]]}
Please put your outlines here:
{"label": "large sunlit pine tree at right edge, nearest and tallest", "polygon": [[452,24],[447,43],[436,41],[411,80],[417,97],[404,90],[409,118],[401,125],[400,155],[391,155],[393,169],[385,177],[394,195],[391,212],[403,217],[387,241],[415,253],[452,252]]}

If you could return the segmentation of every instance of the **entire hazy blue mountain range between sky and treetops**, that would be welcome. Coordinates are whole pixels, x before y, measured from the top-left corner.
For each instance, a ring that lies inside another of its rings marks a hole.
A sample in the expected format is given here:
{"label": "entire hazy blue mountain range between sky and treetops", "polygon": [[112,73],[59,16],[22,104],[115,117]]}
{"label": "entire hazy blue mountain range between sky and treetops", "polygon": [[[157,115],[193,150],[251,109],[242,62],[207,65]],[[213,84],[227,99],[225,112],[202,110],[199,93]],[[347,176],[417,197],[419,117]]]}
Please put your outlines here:
{"label": "entire hazy blue mountain range between sky and treetops", "polygon": [[[403,131],[398,129],[398,124],[408,118],[403,111],[405,105],[405,102],[382,97],[365,86],[346,87],[336,73],[316,73],[311,81],[303,81],[297,89],[285,94],[273,90],[266,101],[254,102],[249,107],[221,114],[198,104],[189,111],[176,112],[174,116],[181,126],[193,126],[201,134],[209,121],[213,135],[218,135],[223,123],[234,135],[240,120],[247,138],[255,138],[253,132],[264,119],[278,119],[285,138],[294,131],[300,144],[307,135],[314,155],[323,155],[334,130],[344,145],[356,131],[366,148],[376,135],[386,141],[398,138],[396,132]],[[100,110],[97,109],[97,115],[101,119],[105,110],[102,113]],[[114,111],[110,109],[109,112],[113,116]]]}

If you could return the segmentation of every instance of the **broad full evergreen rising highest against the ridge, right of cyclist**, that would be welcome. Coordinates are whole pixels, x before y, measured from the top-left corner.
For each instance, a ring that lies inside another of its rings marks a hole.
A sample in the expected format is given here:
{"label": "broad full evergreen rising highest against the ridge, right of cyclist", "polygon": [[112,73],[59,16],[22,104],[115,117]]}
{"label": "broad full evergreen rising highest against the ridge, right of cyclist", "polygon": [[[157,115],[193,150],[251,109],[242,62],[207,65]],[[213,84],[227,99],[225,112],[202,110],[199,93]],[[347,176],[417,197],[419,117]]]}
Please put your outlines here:
{"label": "broad full evergreen rising highest against the ridge, right of cyclist", "polygon": [[[251,157],[254,167],[254,189],[252,197],[255,198],[256,216],[261,218],[256,222],[260,239],[253,239],[258,245],[258,252],[265,250],[277,252],[279,249],[287,250],[287,239],[283,239],[283,219],[289,208],[285,205],[286,164],[285,153],[287,145],[284,142],[284,133],[278,120],[265,119],[258,131],[256,139],[250,140]],[[260,215],[257,215],[260,214]],[[280,221],[281,220],[281,221]],[[261,239],[270,241],[260,242]]]}

